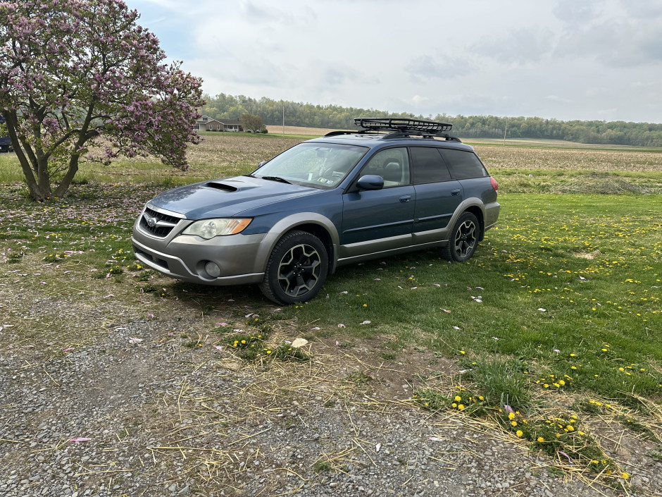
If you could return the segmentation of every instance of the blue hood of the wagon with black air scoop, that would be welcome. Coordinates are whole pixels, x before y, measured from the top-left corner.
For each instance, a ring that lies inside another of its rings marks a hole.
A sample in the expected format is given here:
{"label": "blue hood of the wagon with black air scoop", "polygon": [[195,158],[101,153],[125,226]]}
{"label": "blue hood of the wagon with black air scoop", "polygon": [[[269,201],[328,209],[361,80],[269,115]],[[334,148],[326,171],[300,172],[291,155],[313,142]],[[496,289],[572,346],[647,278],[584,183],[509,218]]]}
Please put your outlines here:
{"label": "blue hood of the wagon with black air scoop", "polygon": [[246,211],[319,191],[251,176],[235,176],[173,188],[158,194],[149,204],[195,220],[250,215]]}

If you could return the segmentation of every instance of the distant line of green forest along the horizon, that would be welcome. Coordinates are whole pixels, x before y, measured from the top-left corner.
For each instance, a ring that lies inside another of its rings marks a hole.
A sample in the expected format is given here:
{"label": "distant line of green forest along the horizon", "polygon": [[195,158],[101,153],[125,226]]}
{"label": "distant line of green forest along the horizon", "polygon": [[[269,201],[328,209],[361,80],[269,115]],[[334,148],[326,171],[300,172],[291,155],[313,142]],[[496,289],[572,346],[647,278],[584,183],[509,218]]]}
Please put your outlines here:
{"label": "distant line of green forest along the horizon", "polygon": [[[283,102],[268,98],[254,99],[244,95],[218,94],[206,96],[201,113],[212,118],[239,119],[243,113],[261,116],[265,124],[306,126],[354,130],[355,117],[409,117],[442,121],[453,125],[453,133],[461,138],[536,138],[568,140],[604,145],[662,147],[662,124],[626,123],[625,121],[558,121],[538,117],[497,116],[417,116],[411,113],[389,113],[375,109],[356,109],[337,105],[313,105]],[[506,119],[508,128],[506,130]]]}

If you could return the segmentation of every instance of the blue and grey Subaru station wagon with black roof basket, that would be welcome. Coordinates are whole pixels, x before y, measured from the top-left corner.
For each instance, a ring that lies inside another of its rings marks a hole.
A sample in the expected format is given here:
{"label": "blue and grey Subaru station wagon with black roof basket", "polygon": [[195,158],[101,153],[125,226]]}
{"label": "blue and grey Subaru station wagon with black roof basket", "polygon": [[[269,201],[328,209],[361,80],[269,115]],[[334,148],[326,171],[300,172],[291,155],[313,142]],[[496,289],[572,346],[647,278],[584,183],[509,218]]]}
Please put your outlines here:
{"label": "blue and grey Subaru station wagon with black roof basket", "polygon": [[132,235],[151,269],[192,283],[257,283],[280,304],[306,302],[338,266],[439,247],[469,259],[497,223],[497,182],[451,125],[356,118],[287,149],[246,176],[150,200]]}

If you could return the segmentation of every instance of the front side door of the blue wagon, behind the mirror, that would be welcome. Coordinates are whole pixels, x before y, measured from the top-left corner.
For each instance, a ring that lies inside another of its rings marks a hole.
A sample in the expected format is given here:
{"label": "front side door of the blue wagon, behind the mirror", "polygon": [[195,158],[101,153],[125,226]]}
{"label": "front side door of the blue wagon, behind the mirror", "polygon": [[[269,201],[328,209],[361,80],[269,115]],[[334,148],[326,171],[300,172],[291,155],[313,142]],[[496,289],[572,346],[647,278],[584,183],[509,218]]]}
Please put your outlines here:
{"label": "front side door of the blue wagon, behind the mirror", "polygon": [[416,192],[406,147],[377,152],[358,174],[384,178],[381,190],[350,189],[343,195],[340,257],[411,245]]}

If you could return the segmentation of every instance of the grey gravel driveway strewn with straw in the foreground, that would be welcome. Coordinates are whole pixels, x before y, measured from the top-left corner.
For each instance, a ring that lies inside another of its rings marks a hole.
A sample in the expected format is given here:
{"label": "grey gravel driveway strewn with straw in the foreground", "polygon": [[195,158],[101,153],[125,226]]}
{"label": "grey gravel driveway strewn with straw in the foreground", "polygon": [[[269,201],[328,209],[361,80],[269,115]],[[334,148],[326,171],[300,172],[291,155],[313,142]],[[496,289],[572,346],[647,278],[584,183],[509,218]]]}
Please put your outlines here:
{"label": "grey gravel driveway strewn with straw in the foreground", "polygon": [[[632,469],[627,490],[416,407],[423,379],[457,372],[432,352],[384,361],[377,339],[329,337],[306,345],[309,362],[246,362],[214,348],[218,317],[191,317],[185,302],[144,318],[146,300],[118,310],[101,296],[0,291],[0,496],[661,495],[661,463],[622,433],[612,454]],[[228,303],[230,327],[245,303]]]}

